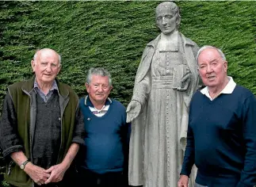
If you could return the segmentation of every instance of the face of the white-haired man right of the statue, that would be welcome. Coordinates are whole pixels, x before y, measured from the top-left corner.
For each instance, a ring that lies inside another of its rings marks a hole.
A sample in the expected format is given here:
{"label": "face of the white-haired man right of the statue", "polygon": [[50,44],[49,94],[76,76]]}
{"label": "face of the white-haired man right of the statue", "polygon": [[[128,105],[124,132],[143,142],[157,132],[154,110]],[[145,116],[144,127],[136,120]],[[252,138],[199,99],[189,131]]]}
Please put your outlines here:
{"label": "face of the white-haired man right of the statue", "polygon": [[227,77],[227,61],[216,49],[204,49],[198,56],[198,71],[205,86],[221,87]]}

